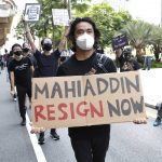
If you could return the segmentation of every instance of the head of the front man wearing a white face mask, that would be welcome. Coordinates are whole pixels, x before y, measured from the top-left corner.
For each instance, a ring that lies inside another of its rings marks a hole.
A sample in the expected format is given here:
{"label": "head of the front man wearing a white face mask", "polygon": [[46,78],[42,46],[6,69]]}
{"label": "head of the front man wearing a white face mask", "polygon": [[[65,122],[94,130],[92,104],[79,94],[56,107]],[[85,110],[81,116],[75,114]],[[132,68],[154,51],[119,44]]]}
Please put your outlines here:
{"label": "head of the front man wearing a white face mask", "polygon": [[90,17],[76,18],[70,26],[68,39],[72,42],[73,50],[96,49],[100,32]]}

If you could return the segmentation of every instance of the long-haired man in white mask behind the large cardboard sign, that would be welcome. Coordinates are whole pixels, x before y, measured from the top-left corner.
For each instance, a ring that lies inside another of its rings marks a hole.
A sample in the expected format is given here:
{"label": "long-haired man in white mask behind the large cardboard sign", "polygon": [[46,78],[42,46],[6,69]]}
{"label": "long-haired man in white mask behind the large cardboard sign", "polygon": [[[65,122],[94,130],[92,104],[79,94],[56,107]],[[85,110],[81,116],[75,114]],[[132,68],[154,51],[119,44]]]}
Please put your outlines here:
{"label": "long-haired man in white mask behind the large cardboard sign", "polygon": [[[113,62],[108,57],[106,70],[94,67],[100,32],[91,18],[76,18],[67,37],[73,45],[75,54],[58,67],[57,77],[117,72]],[[146,119],[134,122],[146,123]],[[69,127],[68,132],[78,162],[105,162],[110,138],[109,124]]]}

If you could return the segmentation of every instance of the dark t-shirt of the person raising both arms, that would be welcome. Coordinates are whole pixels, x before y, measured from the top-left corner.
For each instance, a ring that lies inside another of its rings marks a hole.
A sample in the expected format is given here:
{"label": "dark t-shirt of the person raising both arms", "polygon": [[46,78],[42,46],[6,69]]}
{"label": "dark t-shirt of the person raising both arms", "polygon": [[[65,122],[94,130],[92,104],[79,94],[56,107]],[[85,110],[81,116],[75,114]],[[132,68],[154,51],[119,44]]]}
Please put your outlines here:
{"label": "dark t-shirt of the person raising both arms", "polygon": [[55,77],[58,67],[58,58],[60,52],[58,50],[51,53],[51,55],[41,54],[38,50],[33,54],[37,59],[39,77]]}

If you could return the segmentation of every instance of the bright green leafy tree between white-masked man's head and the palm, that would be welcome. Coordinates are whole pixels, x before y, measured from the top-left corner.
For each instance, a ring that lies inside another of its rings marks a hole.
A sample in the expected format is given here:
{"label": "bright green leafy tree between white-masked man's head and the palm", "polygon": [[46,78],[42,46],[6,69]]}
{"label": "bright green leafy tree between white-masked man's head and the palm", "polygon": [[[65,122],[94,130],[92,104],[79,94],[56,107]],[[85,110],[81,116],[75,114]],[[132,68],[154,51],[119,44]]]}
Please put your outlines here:
{"label": "bright green leafy tree between white-masked man's head and the palm", "polygon": [[107,3],[93,5],[82,16],[92,17],[102,32],[100,45],[108,46],[117,31],[119,31],[132,16],[126,11],[114,12]]}

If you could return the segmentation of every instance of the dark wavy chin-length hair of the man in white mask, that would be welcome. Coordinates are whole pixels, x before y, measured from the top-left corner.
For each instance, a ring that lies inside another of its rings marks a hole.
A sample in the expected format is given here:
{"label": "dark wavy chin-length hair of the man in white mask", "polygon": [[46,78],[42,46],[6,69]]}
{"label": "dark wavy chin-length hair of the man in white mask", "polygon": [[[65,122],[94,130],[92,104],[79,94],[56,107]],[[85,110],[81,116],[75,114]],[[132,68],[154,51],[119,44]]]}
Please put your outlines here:
{"label": "dark wavy chin-length hair of the man in white mask", "polygon": [[81,23],[81,22],[86,22],[92,25],[93,30],[94,30],[94,36],[95,36],[95,43],[94,48],[97,48],[99,38],[100,38],[100,31],[96,27],[96,24],[92,21],[90,17],[77,17],[70,25],[70,30],[69,33],[67,35],[67,38],[72,42],[72,50],[76,51],[76,39],[75,39],[75,31],[76,31],[76,26]]}

